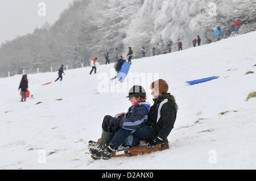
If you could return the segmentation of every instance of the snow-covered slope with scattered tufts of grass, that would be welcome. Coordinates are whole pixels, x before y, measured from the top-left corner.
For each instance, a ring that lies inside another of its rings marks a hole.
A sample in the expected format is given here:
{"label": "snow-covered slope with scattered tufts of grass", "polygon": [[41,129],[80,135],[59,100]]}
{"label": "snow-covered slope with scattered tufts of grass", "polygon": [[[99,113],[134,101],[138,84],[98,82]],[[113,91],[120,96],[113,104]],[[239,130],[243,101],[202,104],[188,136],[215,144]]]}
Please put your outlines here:
{"label": "snow-covered slope with scattered tufts of grass", "polygon": [[[88,141],[100,137],[105,115],[130,107],[125,96],[134,79],[117,84],[126,92],[114,90],[109,83],[113,64],[101,65],[92,75],[91,68],[67,70],[62,82],[54,82],[56,72],[32,74],[28,86],[34,99],[22,103],[21,75],[1,78],[0,169],[256,169],[256,98],[246,101],[256,91],[256,73],[245,75],[256,71],[255,43],[256,32],[251,32],[132,60],[129,75],[158,73],[176,97],[171,149],[108,161],[92,160]],[[212,76],[220,78],[185,83]],[[142,83],[151,104],[149,83],[157,78],[148,76]],[[104,83],[110,87],[102,92]]]}

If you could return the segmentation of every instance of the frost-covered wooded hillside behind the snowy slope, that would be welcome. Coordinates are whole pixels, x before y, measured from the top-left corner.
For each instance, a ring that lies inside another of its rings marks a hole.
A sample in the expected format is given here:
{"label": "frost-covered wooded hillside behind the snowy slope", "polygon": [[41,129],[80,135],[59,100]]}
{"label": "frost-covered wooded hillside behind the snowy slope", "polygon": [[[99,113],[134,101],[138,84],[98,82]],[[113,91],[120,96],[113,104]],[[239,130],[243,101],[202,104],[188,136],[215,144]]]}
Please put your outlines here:
{"label": "frost-covered wooded hillside behind the snowy slope", "polygon": [[176,51],[179,40],[187,49],[197,35],[201,44],[208,44],[216,41],[217,24],[224,37],[233,35],[235,18],[242,24],[240,33],[255,31],[255,7],[255,1],[242,0],[76,0],[55,23],[1,45],[0,77],[8,71],[22,74],[23,69],[47,72],[61,64],[75,69],[82,62],[89,66],[94,57],[103,63],[106,51],[114,60],[115,48],[125,56],[132,47],[134,58],[140,58],[142,47],[146,56],[153,47],[156,54],[170,45]]}

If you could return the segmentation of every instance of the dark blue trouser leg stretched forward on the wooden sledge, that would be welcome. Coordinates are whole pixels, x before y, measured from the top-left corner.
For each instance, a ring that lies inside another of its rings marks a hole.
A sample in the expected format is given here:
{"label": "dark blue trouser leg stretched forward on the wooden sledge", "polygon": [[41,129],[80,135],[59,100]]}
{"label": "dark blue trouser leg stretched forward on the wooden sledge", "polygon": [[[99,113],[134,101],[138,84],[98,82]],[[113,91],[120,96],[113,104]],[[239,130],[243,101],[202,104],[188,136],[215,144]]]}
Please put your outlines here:
{"label": "dark blue trouser leg stretched forward on the wooden sledge", "polygon": [[137,146],[141,140],[150,140],[150,129],[147,125],[141,125],[135,131],[120,128],[112,138],[109,146],[113,150],[117,150],[119,146]]}

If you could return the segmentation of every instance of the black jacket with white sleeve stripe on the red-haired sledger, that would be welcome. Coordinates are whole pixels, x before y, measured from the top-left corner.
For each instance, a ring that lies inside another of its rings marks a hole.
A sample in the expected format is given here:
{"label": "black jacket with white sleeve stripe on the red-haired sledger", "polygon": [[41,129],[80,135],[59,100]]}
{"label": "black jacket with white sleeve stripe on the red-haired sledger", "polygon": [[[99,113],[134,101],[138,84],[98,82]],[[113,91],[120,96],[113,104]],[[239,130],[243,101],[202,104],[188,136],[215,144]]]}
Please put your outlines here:
{"label": "black jacket with white sleeve stripe on the red-haired sledger", "polygon": [[153,100],[146,124],[150,127],[151,140],[156,137],[165,140],[174,128],[178,107],[171,94],[160,95]]}

